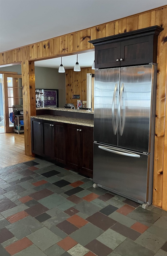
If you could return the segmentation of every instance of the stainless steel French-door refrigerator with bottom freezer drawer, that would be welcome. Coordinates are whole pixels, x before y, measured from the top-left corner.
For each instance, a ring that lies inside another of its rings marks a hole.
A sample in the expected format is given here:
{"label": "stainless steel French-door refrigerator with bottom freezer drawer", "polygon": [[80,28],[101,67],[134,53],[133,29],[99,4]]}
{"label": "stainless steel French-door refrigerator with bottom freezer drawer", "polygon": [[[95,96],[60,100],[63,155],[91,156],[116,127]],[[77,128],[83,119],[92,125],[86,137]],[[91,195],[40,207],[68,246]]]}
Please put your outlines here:
{"label": "stainless steel French-door refrigerator with bottom freezer drawer", "polygon": [[95,70],[93,181],[152,203],[157,66]]}

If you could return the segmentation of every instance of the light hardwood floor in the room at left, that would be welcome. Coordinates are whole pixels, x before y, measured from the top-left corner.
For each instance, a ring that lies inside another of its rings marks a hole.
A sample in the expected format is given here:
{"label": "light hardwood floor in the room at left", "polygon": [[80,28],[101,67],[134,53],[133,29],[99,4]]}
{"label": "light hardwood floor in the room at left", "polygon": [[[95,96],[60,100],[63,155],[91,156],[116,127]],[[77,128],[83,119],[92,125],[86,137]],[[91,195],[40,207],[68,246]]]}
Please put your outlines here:
{"label": "light hardwood floor in the room at left", "polygon": [[33,160],[25,155],[24,134],[0,134],[0,168]]}

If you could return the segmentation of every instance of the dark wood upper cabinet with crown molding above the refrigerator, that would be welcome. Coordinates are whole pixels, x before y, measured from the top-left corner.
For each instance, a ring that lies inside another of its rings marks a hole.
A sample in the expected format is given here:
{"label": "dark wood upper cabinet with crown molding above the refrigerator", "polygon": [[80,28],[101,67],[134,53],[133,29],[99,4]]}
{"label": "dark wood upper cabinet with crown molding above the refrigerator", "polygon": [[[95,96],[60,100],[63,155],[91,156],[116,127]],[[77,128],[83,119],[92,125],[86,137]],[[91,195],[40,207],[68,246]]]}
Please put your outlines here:
{"label": "dark wood upper cabinet with crown molding above the refrigerator", "polygon": [[95,68],[156,63],[158,35],[162,30],[152,26],[89,41],[95,46]]}

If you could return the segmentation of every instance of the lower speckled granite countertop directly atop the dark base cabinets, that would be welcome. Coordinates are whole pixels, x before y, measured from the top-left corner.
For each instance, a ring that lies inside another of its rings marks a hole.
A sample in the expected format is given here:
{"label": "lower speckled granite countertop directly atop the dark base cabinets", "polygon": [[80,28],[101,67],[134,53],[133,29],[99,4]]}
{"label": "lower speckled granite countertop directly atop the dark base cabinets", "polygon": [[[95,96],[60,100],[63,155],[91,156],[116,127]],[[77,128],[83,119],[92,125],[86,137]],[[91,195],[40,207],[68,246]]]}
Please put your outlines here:
{"label": "lower speckled granite countertop directly atop the dark base cabinets", "polygon": [[52,116],[52,115],[40,115],[40,116],[31,116],[31,118],[43,119],[54,122],[61,123],[70,123],[70,124],[78,124],[83,126],[93,127],[93,120],[80,119],[80,118],[71,118],[65,116]]}

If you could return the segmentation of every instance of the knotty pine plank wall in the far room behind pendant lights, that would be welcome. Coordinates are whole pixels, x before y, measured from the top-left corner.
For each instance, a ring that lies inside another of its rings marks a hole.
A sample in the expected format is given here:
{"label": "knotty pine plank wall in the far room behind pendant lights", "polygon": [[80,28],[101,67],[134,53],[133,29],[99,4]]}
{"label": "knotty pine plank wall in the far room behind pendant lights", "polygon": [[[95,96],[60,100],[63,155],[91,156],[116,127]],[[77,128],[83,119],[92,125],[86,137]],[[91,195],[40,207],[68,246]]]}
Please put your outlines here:
{"label": "knotty pine plank wall in the far room behind pendant lights", "polygon": [[77,99],[73,99],[73,94],[79,94],[80,100],[86,100],[86,84],[87,73],[94,74],[91,67],[81,68],[80,72],[73,69],[65,70],[65,84],[66,84],[66,103],[73,103],[77,108]]}

